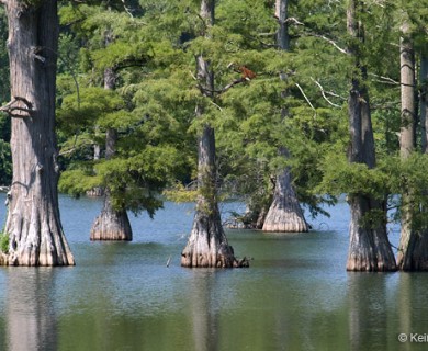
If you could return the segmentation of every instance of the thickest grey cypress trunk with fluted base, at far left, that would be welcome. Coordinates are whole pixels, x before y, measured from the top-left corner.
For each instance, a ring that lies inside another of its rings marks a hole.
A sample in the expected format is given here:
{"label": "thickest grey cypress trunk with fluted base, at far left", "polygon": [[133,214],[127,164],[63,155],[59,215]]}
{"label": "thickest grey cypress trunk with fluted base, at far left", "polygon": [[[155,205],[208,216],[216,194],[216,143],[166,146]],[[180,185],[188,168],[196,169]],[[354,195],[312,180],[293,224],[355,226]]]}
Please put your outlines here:
{"label": "thickest grey cypress trunk with fluted base, at far left", "polygon": [[10,0],[8,50],[12,101],[12,186],[3,264],[72,265],[58,210],[55,137],[57,1]]}

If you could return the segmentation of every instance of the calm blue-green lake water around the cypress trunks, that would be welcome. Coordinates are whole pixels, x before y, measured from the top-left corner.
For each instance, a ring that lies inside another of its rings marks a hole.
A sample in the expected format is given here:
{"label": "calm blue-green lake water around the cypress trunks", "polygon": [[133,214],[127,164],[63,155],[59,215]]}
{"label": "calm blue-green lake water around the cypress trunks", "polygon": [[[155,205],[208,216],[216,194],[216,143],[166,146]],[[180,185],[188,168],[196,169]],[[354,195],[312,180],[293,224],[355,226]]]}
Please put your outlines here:
{"label": "calm blue-green lake water around the cypress trunks", "polygon": [[[4,194],[0,202],[3,223]],[[115,244],[89,241],[100,208],[99,200],[60,197],[76,267],[0,269],[0,350],[428,346],[428,274],[347,273],[343,202],[330,208],[331,218],[309,219],[309,234],[227,231],[236,256],[254,258],[249,269],[235,270],[180,267],[192,204],[166,203],[153,220],[132,217],[134,241]],[[391,238],[396,244],[396,229]],[[399,333],[409,341],[399,342]]]}

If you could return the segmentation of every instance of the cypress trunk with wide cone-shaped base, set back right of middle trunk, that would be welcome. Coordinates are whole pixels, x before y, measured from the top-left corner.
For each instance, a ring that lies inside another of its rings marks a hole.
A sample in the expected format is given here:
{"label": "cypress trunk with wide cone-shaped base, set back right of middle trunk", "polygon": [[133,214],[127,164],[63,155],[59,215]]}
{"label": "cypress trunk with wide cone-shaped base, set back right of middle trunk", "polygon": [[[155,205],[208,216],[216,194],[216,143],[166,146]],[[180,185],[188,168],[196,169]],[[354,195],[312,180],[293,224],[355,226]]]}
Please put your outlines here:
{"label": "cypress trunk with wide cone-shaped base, set back right of middle trunk", "polygon": [[[277,18],[279,22],[277,42],[283,50],[290,48],[290,37],[288,32],[288,0],[277,0]],[[283,109],[283,117],[286,111]],[[286,148],[280,149],[280,155],[289,158]],[[281,170],[275,180],[273,201],[264,218],[263,231],[308,231],[309,227],[303,215],[297,196],[292,184],[290,167]]]}

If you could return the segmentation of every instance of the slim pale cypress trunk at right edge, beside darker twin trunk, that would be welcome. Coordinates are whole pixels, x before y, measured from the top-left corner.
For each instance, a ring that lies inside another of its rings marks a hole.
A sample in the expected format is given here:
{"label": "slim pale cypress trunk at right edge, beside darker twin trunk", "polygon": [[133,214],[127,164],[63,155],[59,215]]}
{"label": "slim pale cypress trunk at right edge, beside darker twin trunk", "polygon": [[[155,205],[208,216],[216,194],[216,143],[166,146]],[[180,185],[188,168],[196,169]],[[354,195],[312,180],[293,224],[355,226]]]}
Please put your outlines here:
{"label": "slim pale cypress trunk at right edge, beside darker twin trunk", "polygon": [[[401,157],[408,158],[415,149],[415,53],[412,39],[408,37],[408,24],[402,25],[403,36],[399,45],[401,89],[402,89],[402,127],[399,138]],[[421,73],[424,68],[421,67]],[[423,94],[421,94],[423,95]],[[426,107],[426,106],[425,106]],[[421,120],[424,105],[421,103]],[[424,121],[426,122],[426,121]],[[426,143],[423,141],[423,147]],[[402,233],[399,238],[397,264],[405,271],[428,270],[428,233],[426,228],[415,230],[414,214],[419,211],[415,206],[413,189],[406,186],[402,193]],[[426,211],[425,208],[423,211]]]}

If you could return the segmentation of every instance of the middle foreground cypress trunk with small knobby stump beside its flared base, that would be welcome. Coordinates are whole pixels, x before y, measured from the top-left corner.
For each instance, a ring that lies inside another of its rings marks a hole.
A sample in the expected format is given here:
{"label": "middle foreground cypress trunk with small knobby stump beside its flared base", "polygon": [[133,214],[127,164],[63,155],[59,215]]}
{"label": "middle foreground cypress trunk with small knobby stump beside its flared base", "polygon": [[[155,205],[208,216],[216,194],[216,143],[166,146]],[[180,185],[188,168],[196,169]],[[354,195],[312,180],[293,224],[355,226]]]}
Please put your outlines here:
{"label": "middle foreground cypress trunk with small knobby stump beside its flared base", "polygon": [[[214,23],[215,0],[202,0],[201,18],[210,27]],[[203,56],[196,57],[198,79],[205,97],[212,98],[214,75]],[[196,118],[204,114],[202,105],[196,106]],[[198,140],[198,189],[200,195],[189,241],[181,253],[181,265],[189,268],[233,268],[248,265],[246,260],[237,261],[222,227],[217,204],[215,134],[209,124],[203,126]]]}

